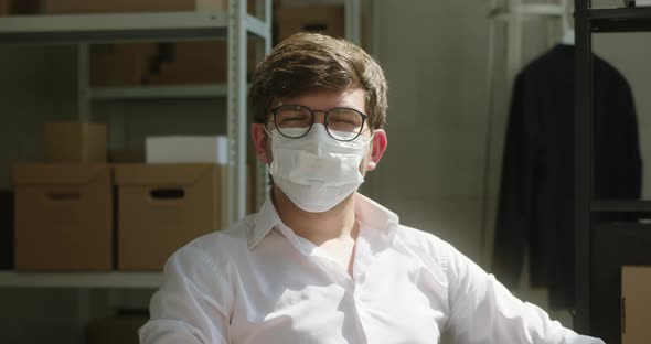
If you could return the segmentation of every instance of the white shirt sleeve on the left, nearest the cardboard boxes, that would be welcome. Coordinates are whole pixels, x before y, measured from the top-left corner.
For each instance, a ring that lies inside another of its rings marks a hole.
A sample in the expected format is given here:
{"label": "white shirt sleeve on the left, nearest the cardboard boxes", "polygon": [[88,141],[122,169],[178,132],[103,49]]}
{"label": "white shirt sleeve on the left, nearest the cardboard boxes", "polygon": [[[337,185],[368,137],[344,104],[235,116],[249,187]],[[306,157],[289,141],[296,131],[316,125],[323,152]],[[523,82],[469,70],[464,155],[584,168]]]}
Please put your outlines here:
{"label": "white shirt sleeve on the left, nearest the cardboard boxes", "polygon": [[141,344],[228,343],[233,300],[228,284],[207,255],[186,246],[170,257],[151,298],[150,320],[138,331]]}

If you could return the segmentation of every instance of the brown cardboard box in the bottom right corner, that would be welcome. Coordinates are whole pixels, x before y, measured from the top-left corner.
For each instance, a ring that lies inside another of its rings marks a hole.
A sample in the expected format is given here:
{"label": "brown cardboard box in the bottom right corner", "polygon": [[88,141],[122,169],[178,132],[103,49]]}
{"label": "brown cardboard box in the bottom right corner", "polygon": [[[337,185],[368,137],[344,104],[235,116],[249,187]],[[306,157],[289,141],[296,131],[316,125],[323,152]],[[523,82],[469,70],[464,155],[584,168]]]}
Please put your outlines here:
{"label": "brown cardboard box in the bottom right corner", "polygon": [[645,344],[651,338],[651,267],[621,268],[621,343]]}

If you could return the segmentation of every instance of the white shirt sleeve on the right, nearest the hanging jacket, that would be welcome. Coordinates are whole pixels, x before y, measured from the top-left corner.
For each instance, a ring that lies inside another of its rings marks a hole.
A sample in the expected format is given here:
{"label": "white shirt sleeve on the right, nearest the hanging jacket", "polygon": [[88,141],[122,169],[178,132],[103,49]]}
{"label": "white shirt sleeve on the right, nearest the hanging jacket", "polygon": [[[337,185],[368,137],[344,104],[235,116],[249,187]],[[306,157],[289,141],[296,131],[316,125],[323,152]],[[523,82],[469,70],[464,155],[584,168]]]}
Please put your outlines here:
{"label": "white shirt sleeve on the right, nearest the hanging jacket", "polygon": [[453,247],[447,245],[444,251],[450,304],[446,332],[453,343],[604,344],[563,327],[542,309],[520,301]]}

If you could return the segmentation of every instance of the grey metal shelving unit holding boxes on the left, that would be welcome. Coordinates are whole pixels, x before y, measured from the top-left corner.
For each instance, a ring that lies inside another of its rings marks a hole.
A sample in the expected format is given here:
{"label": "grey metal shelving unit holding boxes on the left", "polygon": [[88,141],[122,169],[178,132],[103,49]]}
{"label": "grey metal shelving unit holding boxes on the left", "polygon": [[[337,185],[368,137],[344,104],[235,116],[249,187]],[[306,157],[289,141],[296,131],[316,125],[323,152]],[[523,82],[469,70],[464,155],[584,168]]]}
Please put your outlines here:
{"label": "grey metal shelving unit holding boxes on the left", "polygon": [[[258,60],[271,47],[270,0],[258,0],[256,12],[255,17],[248,14],[245,1],[230,1],[228,10],[223,12],[3,17],[0,18],[0,44],[77,44],[77,111],[81,121],[90,120],[92,101],[226,97],[230,149],[227,223],[232,223],[246,214],[247,36],[256,35],[263,40],[256,49]],[[226,84],[106,88],[90,88],[88,85],[89,44],[198,39],[227,40]],[[120,116],[111,116],[110,121],[118,128],[124,125]],[[258,174],[265,176],[265,173]],[[258,190],[257,197],[262,200],[265,191]],[[0,272],[0,287],[154,288],[159,280],[158,272]]]}

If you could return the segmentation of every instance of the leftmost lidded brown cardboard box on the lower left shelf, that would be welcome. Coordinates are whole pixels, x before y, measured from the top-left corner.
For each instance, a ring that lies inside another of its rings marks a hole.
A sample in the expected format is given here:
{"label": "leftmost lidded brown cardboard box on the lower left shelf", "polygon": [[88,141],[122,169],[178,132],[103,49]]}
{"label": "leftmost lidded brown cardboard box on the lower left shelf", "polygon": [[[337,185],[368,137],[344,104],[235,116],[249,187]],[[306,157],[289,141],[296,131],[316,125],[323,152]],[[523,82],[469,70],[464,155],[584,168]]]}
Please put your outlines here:
{"label": "leftmost lidded brown cardboard box on the lower left shelf", "polygon": [[110,270],[113,193],[107,164],[18,164],[17,270]]}

